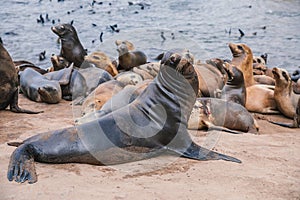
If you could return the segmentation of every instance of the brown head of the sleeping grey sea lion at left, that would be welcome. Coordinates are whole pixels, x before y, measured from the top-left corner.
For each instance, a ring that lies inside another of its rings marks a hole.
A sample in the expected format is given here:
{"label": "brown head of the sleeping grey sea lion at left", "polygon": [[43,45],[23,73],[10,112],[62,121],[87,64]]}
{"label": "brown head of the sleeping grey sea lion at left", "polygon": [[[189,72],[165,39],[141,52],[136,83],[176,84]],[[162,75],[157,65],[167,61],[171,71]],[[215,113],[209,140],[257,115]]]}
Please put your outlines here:
{"label": "brown head of the sleeping grey sea lion at left", "polygon": [[62,92],[60,86],[57,88],[53,87],[52,85],[44,85],[39,87],[38,93],[41,101],[46,103],[58,103],[62,98]]}

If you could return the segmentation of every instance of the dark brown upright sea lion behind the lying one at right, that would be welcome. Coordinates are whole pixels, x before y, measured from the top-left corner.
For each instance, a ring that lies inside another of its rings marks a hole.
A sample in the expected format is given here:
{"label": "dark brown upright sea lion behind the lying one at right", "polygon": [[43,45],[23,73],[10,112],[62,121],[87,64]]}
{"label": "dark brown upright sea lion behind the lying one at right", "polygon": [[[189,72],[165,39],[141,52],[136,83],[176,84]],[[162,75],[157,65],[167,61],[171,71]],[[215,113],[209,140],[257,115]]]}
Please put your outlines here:
{"label": "dark brown upright sea lion behind the lying one at right", "polygon": [[246,104],[246,87],[243,72],[229,63],[224,63],[228,79],[221,92],[221,99],[232,101],[242,106]]}

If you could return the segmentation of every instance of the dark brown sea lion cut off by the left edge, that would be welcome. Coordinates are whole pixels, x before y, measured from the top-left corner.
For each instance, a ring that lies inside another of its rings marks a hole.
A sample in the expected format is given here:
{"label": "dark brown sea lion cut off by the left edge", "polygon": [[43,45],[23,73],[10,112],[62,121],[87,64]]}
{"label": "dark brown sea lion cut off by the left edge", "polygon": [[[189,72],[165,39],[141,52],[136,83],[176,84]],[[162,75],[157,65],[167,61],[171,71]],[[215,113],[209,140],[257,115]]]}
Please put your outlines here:
{"label": "dark brown sea lion cut off by the left edge", "polygon": [[18,87],[18,73],[14,63],[7,52],[0,43],[0,110],[5,110],[8,106],[10,111],[16,113],[37,114],[19,107],[19,87]]}

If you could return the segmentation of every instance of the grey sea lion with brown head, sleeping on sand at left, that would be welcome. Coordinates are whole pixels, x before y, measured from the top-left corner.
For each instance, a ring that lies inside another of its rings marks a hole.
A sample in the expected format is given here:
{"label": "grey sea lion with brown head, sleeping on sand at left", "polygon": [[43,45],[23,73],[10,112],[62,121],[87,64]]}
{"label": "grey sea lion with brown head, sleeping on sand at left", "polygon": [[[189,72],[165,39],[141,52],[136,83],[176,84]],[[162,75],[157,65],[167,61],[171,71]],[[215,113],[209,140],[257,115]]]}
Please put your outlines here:
{"label": "grey sea lion with brown head, sleeping on sand at left", "polygon": [[49,80],[31,68],[22,72],[20,88],[25,96],[36,102],[58,103],[62,98],[58,81]]}

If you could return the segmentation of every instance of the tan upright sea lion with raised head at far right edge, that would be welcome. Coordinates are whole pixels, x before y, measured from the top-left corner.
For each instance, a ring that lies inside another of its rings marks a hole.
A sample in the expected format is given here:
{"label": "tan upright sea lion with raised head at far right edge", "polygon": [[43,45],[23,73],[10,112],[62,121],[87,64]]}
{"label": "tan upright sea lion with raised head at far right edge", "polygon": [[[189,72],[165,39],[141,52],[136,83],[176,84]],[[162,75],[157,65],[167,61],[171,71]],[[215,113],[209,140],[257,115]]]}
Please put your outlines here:
{"label": "tan upright sea lion with raised head at far right edge", "polygon": [[285,69],[273,68],[275,78],[274,99],[278,110],[286,117],[293,119],[300,95],[294,93],[292,79]]}

